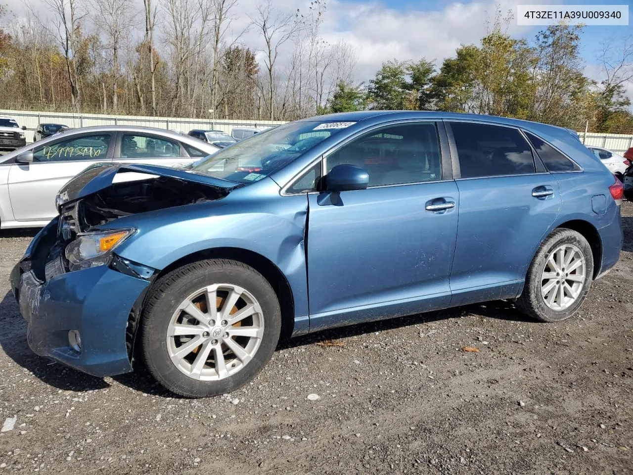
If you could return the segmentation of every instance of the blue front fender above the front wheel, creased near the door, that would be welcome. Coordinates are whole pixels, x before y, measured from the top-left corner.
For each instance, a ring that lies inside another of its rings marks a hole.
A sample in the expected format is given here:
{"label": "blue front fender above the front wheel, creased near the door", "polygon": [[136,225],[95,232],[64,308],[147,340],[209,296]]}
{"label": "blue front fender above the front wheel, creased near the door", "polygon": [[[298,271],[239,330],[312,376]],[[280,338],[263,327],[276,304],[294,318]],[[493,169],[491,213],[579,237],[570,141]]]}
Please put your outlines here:
{"label": "blue front fender above the front wheel, creased near the door", "polygon": [[113,226],[129,225],[138,232],[116,253],[154,269],[165,269],[181,258],[214,248],[257,253],[275,264],[287,279],[295,318],[307,318],[306,195],[277,194],[257,201],[231,201],[229,197],[118,219]]}

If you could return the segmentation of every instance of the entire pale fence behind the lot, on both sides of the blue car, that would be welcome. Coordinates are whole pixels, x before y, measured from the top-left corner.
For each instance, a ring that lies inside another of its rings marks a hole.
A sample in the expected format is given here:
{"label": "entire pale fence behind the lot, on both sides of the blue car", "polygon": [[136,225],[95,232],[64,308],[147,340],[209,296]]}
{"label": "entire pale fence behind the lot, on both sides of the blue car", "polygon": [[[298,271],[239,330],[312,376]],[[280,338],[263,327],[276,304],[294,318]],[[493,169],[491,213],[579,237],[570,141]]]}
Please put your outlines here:
{"label": "entire pale fence behind the lot, on both sides of the blue car", "polygon": [[[284,124],[279,120],[214,120],[211,118],[175,118],[149,117],[135,115],[103,115],[103,114],[73,114],[63,112],[31,112],[0,109],[0,115],[15,118],[20,125],[27,127],[27,142],[33,140],[33,132],[37,124],[51,122],[65,124],[68,127],[89,127],[90,125],[142,125],[143,127],[158,127],[159,129],[179,130],[185,134],[191,129],[223,130],[228,134],[233,127],[257,127],[267,129],[273,125]],[[608,148],[617,153],[624,153],[633,147],[633,135],[597,134],[595,132],[579,132],[580,140],[585,145],[595,145]]]}

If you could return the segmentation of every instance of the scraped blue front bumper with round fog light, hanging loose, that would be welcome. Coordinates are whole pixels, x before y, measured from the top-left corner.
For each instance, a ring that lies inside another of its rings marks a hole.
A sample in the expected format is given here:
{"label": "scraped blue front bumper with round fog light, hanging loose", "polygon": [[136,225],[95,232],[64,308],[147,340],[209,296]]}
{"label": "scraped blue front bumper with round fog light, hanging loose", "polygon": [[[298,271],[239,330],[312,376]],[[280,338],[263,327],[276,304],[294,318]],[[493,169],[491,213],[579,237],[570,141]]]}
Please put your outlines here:
{"label": "scraped blue front bumper with round fog light, hanging loose", "polygon": [[[27,320],[27,341],[33,352],[93,376],[132,371],[126,327],[149,281],[102,265],[42,282],[21,265],[11,272],[11,289]],[[80,333],[81,352],[68,343],[71,330]]]}

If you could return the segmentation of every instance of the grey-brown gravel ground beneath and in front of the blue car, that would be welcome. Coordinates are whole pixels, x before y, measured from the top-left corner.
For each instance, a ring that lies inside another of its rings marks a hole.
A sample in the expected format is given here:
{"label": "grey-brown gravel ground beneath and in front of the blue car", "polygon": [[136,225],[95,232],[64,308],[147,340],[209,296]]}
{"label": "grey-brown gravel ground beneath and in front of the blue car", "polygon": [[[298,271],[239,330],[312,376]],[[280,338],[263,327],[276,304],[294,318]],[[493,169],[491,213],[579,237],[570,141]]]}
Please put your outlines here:
{"label": "grey-brown gravel ground beneath and in front of the blue car", "polygon": [[566,322],[498,301],[322,332],[206,400],[32,354],[8,275],[33,232],[3,232],[0,473],[633,474],[632,203],[622,214],[620,262]]}

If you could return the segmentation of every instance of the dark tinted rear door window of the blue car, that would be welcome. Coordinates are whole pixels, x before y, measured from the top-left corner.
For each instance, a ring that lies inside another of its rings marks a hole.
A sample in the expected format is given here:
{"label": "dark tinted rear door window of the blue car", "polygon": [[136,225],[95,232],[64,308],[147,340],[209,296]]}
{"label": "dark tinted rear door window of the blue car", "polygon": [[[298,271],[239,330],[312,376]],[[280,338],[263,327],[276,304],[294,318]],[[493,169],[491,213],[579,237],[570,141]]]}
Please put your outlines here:
{"label": "dark tinted rear door window of the blue car", "polygon": [[534,156],[521,132],[500,125],[451,122],[461,177],[534,173]]}

